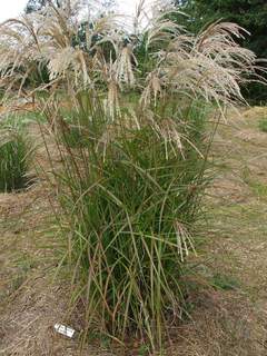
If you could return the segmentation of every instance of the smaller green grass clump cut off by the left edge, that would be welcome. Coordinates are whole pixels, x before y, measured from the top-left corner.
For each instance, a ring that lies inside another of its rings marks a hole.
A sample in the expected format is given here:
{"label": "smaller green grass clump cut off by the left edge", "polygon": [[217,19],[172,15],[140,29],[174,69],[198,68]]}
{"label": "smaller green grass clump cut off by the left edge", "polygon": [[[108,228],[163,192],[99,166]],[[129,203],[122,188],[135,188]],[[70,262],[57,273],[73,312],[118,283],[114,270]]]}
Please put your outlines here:
{"label": "smaller green grass clump cut off by the left edge", "polygon": [[23,189],[30,184],[32,142],[18,126],[0,127],[0,191]]}

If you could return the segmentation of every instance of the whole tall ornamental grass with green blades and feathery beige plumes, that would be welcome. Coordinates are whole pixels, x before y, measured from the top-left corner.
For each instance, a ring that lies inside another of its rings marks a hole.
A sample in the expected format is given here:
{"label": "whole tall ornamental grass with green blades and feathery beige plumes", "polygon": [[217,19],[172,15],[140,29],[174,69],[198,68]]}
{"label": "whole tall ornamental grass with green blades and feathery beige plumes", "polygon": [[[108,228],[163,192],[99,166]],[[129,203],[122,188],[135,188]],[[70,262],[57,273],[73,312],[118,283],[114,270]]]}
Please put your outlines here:
{"label": "whole tall ornamental grass with green blades and feathery beige plumes", "polygon": [[[50,2],[0,26],[3,101],[47,92],[37,109],[62,158],[60,226],[85,339],[93,327],[156,349],[182,314],[212,139],[205,108],[244,102],[256,59],[235,23],[191,36],[174,9],[147,12],[141,1],[129,34],[121,16],[85,16],[82,4]],[[43,66],[49,80],[32,87]]]}

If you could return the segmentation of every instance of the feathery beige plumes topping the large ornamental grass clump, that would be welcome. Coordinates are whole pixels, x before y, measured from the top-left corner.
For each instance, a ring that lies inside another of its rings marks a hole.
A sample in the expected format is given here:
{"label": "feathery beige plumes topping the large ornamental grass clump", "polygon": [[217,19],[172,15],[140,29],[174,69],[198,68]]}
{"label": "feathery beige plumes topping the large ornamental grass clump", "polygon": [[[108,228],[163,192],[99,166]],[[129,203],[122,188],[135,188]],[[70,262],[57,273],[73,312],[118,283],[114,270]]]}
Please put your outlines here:
{"label": "feathery beige plumes topping the large ornamental grass clump", "polygon": [[[49,83],[34,91],[55,85],[53,88],[66,87],[73,93],[100,86],[110,110],[122,105],[115,91],[129,86],[142,92],[144,108],[149,107],[151,97],[155,102],[169,91],[219,105],[243,101],[239,85],[255,72],[256,58],[235,42],[235,38],[246,33],[237,24],[214,23],[195,37],[169,20],[168,12],[157,11],[146,28],[131,37],[116,14],[87,20],[83,16],[79,20],[80,4],[50,4],[42,12],[0,26],[1,87],[8,97],[14,91],[22,95],[32,72],[43,63],[48,66]],[[137,12],[138,18],[141,16],[142,7]],[[146,42],[152,59],[145,78],[138,76],[135,57],[140,41]]]}

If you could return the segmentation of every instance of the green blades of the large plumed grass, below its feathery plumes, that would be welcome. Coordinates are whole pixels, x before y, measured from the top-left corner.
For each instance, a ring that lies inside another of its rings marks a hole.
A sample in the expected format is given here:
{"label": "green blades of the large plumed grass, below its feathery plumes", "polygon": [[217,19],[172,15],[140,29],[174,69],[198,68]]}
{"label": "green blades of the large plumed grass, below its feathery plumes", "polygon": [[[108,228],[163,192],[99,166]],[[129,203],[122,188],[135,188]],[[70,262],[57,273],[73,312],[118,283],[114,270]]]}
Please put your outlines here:
{"label": "green blades of the large plumed grass, below its feathery plumes", "polygon": [[[88,112],[97,125],[98,115]],[[112,125],[102,136],[92,123],[87,145],[71,149],[67,141],[61,151],[60,201],[65,235],[71,231],[76,299],[87,306],[88,328],[120,340],[134,333],[159,346],[185,306],[182,266],[194,251],[208,177],[204,111],[194,107],[182,118],[182,147],[168,141],[171,121],[162,128],[166,142],[149,125],[122,131]]]}

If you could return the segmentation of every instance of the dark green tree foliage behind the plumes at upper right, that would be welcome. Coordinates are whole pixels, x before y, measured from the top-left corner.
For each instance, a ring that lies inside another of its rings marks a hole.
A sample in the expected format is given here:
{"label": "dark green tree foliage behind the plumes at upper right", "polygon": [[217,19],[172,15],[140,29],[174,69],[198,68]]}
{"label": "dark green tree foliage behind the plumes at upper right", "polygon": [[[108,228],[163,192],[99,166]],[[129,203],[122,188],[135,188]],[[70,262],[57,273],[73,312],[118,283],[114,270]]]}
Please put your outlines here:
{"label": "dark green tree foliage behind the plumes at upper right", "polygon": [[[250,32],[250,36],[247,36],[246,39],[239,39],[240,44],[253,50],[258,58],[267,59],[266,0],[177,0],[176,3],[189,14],[189,18],[178,16],[177,20],[186,23],[187,28],[192,32],[196,33],[207,23],[220,19],[236,22]],[[267,69],[267,65],[264,61],[260,66]],[[267,100],[267,89],[263,85],[250,83],[247,88],[243,88],[243,91],[246,98],[254,101]]]}

